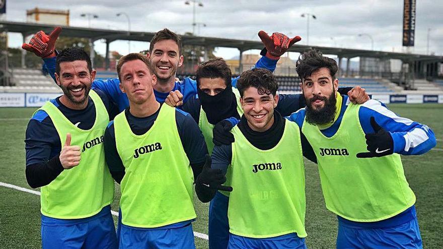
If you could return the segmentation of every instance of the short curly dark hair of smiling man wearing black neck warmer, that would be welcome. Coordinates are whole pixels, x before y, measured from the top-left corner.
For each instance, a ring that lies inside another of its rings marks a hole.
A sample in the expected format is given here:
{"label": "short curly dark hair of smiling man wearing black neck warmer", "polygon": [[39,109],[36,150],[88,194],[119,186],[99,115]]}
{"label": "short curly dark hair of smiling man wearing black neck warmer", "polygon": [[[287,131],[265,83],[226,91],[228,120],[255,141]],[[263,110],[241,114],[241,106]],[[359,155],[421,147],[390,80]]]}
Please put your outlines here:
{"label": "short curly dark hair of smiling man wearing black neck warmer", "polygon": [[277,79],[271,71],[264,68],[253,68],[240,74],[237,80],[237,89],[243,98],[246,89],[254,87],[259,94],[272,94],[275,96],[278,90]]}

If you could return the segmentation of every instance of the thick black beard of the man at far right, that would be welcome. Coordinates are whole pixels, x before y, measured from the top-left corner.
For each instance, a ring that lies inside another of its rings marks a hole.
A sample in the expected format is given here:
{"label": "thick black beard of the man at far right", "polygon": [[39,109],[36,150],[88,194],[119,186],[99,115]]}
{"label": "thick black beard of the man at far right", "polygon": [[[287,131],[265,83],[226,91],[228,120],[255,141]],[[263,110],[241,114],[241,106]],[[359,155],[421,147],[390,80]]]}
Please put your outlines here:
{"label": "thick black beard of the man at far right", "polygon": [[[312,103],[316,100],[324,100],[325,105],[321,109],[313,109]],[[324,125],[329,124],[334,121],[335,112],[337,111],[337,107],[335,104],[337,103],[337,98],[335,97],[335,90],[329,96],[320,97],[314,96],[311,99],[306,99],[306,122],[312,125]]]}

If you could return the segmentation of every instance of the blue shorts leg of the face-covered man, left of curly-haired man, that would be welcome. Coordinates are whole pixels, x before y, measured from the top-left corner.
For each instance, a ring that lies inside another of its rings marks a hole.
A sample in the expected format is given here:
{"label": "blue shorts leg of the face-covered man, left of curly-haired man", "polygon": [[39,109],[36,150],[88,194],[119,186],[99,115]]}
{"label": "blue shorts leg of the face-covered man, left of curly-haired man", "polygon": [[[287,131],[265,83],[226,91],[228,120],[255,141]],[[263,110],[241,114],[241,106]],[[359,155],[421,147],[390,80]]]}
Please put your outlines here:
{"label": "blue shorts leg of the face-covered man, left of curly-haired man", "polygon": [[217,191],[209,204],[209,249],[226,249],[229,241],[229,198]]}

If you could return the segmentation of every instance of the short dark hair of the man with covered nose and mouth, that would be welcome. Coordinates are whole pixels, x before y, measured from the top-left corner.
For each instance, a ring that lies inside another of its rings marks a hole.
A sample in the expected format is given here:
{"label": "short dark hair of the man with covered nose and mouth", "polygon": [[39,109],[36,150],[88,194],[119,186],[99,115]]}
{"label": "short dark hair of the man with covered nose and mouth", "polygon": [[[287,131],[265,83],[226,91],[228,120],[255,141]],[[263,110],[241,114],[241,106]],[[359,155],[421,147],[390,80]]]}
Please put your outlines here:
{"label": "short dark hair of the man with covered nose and mouth", "polygon": [[195,72],[197,86],[200,86],[201,78],[223,78],[226,87],[231,87],[232,73],[226,61],[221,57],[215,57],[198,65]]}

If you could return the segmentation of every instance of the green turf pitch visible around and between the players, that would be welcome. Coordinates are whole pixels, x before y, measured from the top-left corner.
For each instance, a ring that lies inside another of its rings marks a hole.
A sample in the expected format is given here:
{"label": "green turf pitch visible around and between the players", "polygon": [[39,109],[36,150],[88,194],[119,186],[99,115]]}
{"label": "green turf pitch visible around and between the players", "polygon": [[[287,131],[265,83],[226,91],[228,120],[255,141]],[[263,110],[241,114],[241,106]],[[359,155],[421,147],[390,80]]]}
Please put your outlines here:
{"label": "green turf pitch visible around and between the players", "polygon": [[[427,124],[439,139],[436,148],[443,149],[443,105],[438,104],[393,104],[391,110],[403,117]],[[28,118],[35,109],[0,108],[0,182],[30,188],[25,179],[24,136]],[[9,120],[13,119],[13,120]],[[417,196],[417,215],[424,248],[443,248],[439,234],[443,228],[443,151],[431,150],[421,156],[402,156],[405,174]],[[0,187],[0,248],[40,247],[40,201],[39,196]],[[116,186],[113,210],[118,210],[120,197]],[[315,164],[306,163],[307,214],[306,239],[309,248],[334,248],[337,221],[327,211],[320,188],[318,170]],[[196,198],[195,198],[196,199]],[[207,234],[208,205],[195,200],[198,215],[193,223],[194,231]],[[207,248],[207,241],[195,239],[197,248]]]}

